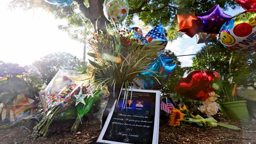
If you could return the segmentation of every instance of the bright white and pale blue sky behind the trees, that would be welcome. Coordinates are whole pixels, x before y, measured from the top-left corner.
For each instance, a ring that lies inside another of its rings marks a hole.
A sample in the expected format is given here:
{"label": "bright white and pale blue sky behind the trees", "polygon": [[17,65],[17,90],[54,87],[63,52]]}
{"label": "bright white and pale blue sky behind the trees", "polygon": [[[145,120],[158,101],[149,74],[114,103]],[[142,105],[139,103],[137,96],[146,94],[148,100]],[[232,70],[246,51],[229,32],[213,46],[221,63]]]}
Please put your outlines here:
{"label": "bright white and pale blue sky behind the trees", "polygon": [[[67,33],[58,30],[59,24],[66,23],[64,20],[55,20],[54,16],[42,10],[8,10],[8,0],[4,2],[0,5],[0,61],[25,66],[54,52],[68,52],[83,58],[84,44],[71,40]],[[240,8],[224,13],[234,16],[243,11]],[[176,56],[196,54],[204,45],[197,44],[196,41],[196,36],[190,38],[184,34],[182,38],[168,42],[166,49],[174,52]],[[182,66],[192,64],[191,57],[178,58],[183,63]]]}

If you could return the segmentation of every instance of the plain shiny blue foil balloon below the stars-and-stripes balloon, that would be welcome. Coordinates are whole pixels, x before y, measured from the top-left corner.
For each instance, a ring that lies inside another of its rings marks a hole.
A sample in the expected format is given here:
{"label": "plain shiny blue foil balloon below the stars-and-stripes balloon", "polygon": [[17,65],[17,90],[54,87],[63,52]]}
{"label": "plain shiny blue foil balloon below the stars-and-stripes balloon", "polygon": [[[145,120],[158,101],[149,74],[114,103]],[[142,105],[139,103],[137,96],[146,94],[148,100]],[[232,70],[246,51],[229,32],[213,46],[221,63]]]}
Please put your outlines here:
{"label": "plain shiny blue foil balloon below the stars-and-stripes balloon", "polygon": [[150,64],[149,71],[142,72],[138,75],[144,81],[144,89],[156,88],[165,84],[176,64],[172,64],[173,59],[162,54],[159,58]]}

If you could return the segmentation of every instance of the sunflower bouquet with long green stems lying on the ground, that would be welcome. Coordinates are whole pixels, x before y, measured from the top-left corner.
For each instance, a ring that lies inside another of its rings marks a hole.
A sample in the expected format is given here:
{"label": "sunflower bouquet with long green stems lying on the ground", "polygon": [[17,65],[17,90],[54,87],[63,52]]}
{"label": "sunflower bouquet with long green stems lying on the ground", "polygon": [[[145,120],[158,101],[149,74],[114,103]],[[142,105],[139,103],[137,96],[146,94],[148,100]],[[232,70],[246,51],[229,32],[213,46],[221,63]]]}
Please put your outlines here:
{"label": "sunflower bouquet with long green stems lying on the ground", "polygon": [[199,127],[216,127],[216,126],[222,126],[225,128],[229,128],[232,130],[240,130],[237,126],[233,126],[230,124],[223,124],[218,122],[212,117],[209,118],[203,118],[199,114],[194,116],[190,110],[186,108],[186,105],[183,107],[179,107],[179,109],[172,110],[172,115],[170,115],[170,120],[168,121],[168,124],[170,126],[186,126],[186,125],[194,125]]}

